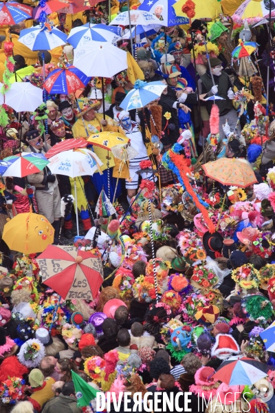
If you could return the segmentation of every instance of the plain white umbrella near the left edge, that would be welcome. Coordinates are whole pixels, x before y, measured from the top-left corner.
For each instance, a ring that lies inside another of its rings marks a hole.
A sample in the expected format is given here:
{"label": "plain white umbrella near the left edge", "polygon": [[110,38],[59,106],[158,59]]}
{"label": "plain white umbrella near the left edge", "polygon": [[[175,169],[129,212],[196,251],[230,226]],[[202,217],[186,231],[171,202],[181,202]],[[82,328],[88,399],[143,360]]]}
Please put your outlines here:
{"label": "plain white umbrella near the left edge", "polygon": [[43,90],[30,82],[12,83],[5,92],[5,104],[15,112],[34,112],[43,103]]}

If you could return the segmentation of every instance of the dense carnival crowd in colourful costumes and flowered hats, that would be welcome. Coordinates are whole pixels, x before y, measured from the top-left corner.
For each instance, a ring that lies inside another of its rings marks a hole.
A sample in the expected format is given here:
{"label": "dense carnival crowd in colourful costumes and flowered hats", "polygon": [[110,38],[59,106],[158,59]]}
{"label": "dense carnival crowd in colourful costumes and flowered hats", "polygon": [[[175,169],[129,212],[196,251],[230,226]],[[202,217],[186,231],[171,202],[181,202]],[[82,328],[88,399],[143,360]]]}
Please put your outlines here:
{"label": "dense carnival crowd in colourful costumes and flowered hats", "polygon": [[[104,3],[88,14],[49,19],[65,32],[87,21],[107,23]],[[112,4],[112,17],[126,7]],[[12,41],[10,83],[43,88],[43,73],[72,64],[74,49],[29,50],[18,40],[28,24],[0,32],[0,81],[7,75],[4,42]],[[234,47],[244,47],[243,31],[258,54],[234,60]],[[275,348],[272,337],[263,338],[275,321],[275,95],[266,83],[272,83],[268,39],[266,25],[233,28],[225,16],[162,27],[134,41],[131,70],[91,78],[69,95],[44,90],[45,103],[34,113],[3,105],[1,160],[46,155],[59,142],[85,142],[102,132],[124,138],[132,156],[124,162],[87,142],[102,164],[93,176],[73,180],[46,166],[25,178],[1,177],[1,413],[96,412],[95,398],[80,404],[85,390],[79,391],[75,375],[106,397],[127,393],[131,408],[139,392],[144,412],[155,392],[162,402],[177,399],[183,411],[188,393],[192,413],[273,412]],[[129,39],[116,46],[131,55]],[[159,98],[122,109],[133,88],[151,82],[163,86]],[[207,167],[218,161],[211,175]],[[102,285],[92,301],[64,299],[43,283],[43,251],[9,248],[5,225],[30,208],[52,225],[54,244],[101,258]],[[242,371],[230,367],[236,360],[243,361]]]}

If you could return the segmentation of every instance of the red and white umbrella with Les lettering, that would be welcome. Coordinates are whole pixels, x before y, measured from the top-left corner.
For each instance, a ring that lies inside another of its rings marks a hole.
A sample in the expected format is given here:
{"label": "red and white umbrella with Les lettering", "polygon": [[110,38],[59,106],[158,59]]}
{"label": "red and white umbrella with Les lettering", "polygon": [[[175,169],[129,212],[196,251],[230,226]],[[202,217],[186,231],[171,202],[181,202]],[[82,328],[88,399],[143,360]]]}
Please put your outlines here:
{"label": "red and white umbrella with Les lettering", "polygon": [[103,282],[101,258],[91,251],[81,251],[75,246],[49,245],[36,258],[42,282],[63,299],[87,299],[98,295]]}

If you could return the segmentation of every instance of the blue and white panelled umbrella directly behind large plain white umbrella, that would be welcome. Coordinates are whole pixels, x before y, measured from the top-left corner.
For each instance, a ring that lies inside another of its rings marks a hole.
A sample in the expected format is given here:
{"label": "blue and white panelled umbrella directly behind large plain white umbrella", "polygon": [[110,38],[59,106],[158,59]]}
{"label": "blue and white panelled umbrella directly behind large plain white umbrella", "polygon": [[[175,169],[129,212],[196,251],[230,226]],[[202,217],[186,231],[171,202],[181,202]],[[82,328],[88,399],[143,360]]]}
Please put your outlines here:
{"label": "blue and white panelled umbrella directly behind large plain white umbrella", "polygon": [[82,47],[89,45],[91,41],[109,41],[112,42],[115,39],[120,39],[121,28],[116,26],[107,26],[106,24],[90,24],[73,28],[67,38],[75,49],[76,47]]}

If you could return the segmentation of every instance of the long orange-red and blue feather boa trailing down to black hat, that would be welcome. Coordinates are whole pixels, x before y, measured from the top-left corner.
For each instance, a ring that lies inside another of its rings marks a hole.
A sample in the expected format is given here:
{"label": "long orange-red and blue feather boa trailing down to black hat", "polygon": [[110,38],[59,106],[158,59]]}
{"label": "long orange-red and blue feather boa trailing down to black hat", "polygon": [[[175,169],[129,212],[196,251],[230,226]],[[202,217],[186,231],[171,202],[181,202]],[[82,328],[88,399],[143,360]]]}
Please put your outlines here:
{"label": "long orange-red and blue feather boa trailing down to black hat", "polygon": [[208,207],[208,204],[206,202],[203,202],[199,195],[195,193],[194,189],[192,189],[187,176],[187,174],[190,175],[190,169],[186,165],[186,159],[183,156],[179,155],[179,151],[181,150],[181,145],[175,143],[172,149],[169,149],[166,153],[164,153],[164,156],[162,157],[162,165],[164,165],[166,169],[170,169],[170,171],[173,171],[173,173],[177,175],[177,178],[182,187],[186,189],[186,191],[194,201],[195,206],[202,213],[204,222],[208,226],[209,232],[214,233],[215,227],[212,220],[210,220],[208,211],[206,209],[206,207]]}

